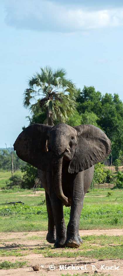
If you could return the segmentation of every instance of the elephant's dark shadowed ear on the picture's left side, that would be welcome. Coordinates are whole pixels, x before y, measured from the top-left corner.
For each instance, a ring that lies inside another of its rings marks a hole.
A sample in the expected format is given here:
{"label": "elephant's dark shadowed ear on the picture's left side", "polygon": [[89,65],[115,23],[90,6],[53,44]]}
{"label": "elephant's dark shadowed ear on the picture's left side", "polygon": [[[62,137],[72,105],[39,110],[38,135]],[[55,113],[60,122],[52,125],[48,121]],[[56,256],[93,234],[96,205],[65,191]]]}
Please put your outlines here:
{"label": "elephant's dark shadowed ear on the picture's left side", "polygon": [[20,159],[42,171],[52,171],[51,157],[45,152],[47,131],[52,126],[33,124],[24,129],[14,143]]}

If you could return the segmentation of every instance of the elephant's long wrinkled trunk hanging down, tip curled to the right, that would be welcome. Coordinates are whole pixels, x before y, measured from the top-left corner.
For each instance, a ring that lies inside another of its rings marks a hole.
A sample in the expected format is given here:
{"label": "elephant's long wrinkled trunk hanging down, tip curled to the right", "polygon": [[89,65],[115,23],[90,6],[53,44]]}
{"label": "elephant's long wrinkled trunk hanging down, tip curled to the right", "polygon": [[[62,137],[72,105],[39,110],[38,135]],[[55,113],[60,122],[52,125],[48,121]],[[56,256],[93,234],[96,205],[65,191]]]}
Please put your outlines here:
{"label": "elephant's long wrinkled trunk hanging down, tip curled to the right", "polygon": [[63,194],[62,190],[62,161],[63,156],[52,157],[52,180],[57,197],[64,203],[68,203],[68,198]]}

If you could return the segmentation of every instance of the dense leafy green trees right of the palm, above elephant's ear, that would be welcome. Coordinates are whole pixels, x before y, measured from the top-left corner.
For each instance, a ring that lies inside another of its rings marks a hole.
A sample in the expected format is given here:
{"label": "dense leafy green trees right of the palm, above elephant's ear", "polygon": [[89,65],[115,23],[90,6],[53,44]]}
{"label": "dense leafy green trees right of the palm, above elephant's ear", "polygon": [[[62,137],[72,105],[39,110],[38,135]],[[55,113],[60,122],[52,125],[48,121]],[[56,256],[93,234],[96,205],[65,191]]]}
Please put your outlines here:
{"label": "dense leafy green trees right of the palm, above elephant's ear", "polygon": [[118,94],[112,96],[112,94],[106,93],[102,96],[99,91],[95,91],[93,86],[84,86],[82,91],[78,91],[77,102],[77,111],[79,114],[83,114],[85,119],[87,113],[90,116],[93,112],[97,116],[96,124],[112,142],[114,162],[119,158],[121,151],[123,152],[123,103]]}

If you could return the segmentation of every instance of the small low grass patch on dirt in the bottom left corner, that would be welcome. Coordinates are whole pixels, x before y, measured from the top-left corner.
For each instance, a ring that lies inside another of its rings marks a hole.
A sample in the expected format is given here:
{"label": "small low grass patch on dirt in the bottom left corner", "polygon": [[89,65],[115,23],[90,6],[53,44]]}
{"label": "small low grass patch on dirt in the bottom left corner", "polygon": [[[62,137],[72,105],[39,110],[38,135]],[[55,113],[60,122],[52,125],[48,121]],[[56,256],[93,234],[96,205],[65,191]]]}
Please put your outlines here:
{"label": "small low grass patch on dirt in the bottom left corner", "polygon": [[24,266],[28,266],[28,264],[28,261],[16,261],[15,263],[11,263],[10,261],[0,261],[0,269],[21,268]]}

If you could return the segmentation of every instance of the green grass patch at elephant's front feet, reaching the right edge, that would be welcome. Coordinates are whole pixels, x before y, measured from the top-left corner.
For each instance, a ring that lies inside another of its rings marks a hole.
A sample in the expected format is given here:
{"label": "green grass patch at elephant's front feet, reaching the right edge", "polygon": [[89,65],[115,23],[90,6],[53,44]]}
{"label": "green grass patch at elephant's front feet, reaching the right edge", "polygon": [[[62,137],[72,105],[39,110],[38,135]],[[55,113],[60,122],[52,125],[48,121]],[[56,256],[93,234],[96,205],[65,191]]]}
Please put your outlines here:
{"label": "green grass patch at elephant's front feet, reaching the right edge", "polygon": [[102,259],[122,259],[123,258],[123,236],[84,236],[83,244],[79,249],[60,249],[54,246],[43,246],[33,249],[35,254],[43,254],[44,257],[50,258],[102,258]]}

